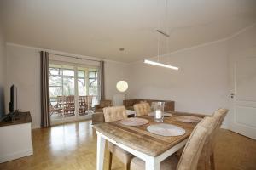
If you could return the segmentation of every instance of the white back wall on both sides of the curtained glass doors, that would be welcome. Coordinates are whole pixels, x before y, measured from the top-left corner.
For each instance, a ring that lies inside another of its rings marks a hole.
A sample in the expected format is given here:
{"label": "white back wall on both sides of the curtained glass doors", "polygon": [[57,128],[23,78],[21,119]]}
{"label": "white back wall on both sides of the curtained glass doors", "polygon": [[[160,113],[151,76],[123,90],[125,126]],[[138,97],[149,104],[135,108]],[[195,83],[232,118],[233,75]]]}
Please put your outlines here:
{"label": "white back wall on both sides of the curtained glass doors", "polygon": [[[125,78],[126,65],[106,61],[105,89],[106,98],[112,99],[115,83]],[[40,55],[38,48],[8,44],[7,45],[7,80],[6,101],[9,101],[9,87],[18,88],[18,109],[31,111],[32,127],[40,127]],[[5,102],[6,105],[8,102]]]}

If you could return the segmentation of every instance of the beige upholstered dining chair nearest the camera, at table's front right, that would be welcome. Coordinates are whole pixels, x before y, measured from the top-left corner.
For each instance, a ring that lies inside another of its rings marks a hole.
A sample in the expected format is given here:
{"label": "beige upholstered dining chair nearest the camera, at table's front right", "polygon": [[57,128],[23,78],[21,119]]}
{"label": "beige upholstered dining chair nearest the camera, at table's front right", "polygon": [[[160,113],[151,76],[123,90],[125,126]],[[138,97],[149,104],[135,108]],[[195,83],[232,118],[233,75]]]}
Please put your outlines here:
{"label": "beige upholstered dining chair nearest the camera, at table's front right", "polygon": [[[209,125],[209,126],[207,126]],[[184,147],[182,156],[173,154],[160,163],[160,170],[195,170],[201,150],[211,131],[212,118],[206,117],[196,125]],[[145,169],[145,162],[137,157],[131,160],[131,170]]]}

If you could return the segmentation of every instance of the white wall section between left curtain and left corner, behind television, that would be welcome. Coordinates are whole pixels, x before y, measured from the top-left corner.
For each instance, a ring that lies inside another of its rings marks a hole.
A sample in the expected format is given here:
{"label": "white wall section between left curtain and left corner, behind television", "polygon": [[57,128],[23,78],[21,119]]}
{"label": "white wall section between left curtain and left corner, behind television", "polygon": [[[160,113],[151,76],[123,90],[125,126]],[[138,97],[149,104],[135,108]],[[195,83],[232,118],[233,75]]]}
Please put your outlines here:
{"label": "white wall section between left curtain and left corner, behind television", "polygon": [[32,127],[40,126],[40,60],[35,48],[7,45],[6,105],[9,87],[18,88],[18,109],[30,111]]}

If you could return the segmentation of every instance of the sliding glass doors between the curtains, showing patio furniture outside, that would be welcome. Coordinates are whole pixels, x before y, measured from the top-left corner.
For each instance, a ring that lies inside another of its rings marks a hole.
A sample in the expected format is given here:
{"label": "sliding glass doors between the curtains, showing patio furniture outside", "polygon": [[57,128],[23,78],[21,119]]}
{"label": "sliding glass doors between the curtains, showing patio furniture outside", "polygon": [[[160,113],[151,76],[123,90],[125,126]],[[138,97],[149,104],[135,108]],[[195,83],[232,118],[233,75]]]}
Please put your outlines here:
{"label": "sliding glass doors between the curtains, showing patio furniture outside", "polygon": [[49,100],[52,122],[88,116],[98,103],[98,68],[49,64]]}

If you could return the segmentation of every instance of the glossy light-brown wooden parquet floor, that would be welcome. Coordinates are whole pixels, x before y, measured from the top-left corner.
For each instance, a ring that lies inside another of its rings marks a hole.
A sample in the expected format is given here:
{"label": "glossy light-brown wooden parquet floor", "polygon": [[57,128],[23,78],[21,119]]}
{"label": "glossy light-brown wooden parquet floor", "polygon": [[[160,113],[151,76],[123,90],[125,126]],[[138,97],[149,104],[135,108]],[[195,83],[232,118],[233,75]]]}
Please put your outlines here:
{"label": "glossy light-brown wooden parquet floor", "polygon": [[[32,130],[33,156],[0,164],[1,170],[96,169],[96,133],[91,121]],[[19,141],[17,141],[19,142]],[[108,156],[105,156],[105,169]],[[228,130],[218,133],[216,169],[256,169],[256,141]],[[124,169],[113,157],[113,170]]]}

